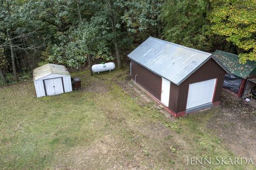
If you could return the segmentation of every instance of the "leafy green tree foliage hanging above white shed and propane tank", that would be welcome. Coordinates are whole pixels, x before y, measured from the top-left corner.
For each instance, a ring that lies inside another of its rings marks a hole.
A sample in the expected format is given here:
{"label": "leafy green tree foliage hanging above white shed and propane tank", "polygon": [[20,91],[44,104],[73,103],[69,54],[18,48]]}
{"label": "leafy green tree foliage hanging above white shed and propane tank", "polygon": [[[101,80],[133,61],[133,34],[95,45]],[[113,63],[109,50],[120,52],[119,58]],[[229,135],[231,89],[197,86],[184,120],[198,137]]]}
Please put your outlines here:
{"label": "leafy green tree foliage hanging above white shed and propane tank", "polygon": [[68,36],[61,37],[62,43],[59,46],[52,47],[53,55],[48,60],[77,68],[89,57],[101,58],[104,61],[113,60],[108,48],[107,31],[102,22],[106,21],[93,18],[90,23],[83,22],[78,28],[71,29],[67,33]]}

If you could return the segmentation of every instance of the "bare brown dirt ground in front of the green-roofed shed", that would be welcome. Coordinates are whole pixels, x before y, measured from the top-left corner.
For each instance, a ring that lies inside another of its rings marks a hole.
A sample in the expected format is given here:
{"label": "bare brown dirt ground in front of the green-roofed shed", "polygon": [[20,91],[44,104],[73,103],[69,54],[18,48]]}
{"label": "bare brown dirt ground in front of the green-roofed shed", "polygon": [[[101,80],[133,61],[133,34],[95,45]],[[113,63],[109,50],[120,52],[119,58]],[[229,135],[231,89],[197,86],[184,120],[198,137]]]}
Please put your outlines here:
{"label": "bare brown dirt ground in front of the green-roofed shed", "polygon": [[256,160],[256,108],[223,92],[221,113],[208,125],[235,154]]}

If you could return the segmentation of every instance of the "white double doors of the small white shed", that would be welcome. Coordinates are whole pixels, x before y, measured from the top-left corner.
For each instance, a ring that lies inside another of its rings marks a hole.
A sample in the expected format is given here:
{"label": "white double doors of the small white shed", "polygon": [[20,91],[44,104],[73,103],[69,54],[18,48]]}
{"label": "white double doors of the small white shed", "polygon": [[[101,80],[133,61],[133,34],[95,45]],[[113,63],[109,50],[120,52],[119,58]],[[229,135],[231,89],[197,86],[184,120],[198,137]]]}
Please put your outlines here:
{"label": "white double doors of the small white shed", "polygon": [[62,94],[63,85],[61,78],[44,80],[47,96]]}

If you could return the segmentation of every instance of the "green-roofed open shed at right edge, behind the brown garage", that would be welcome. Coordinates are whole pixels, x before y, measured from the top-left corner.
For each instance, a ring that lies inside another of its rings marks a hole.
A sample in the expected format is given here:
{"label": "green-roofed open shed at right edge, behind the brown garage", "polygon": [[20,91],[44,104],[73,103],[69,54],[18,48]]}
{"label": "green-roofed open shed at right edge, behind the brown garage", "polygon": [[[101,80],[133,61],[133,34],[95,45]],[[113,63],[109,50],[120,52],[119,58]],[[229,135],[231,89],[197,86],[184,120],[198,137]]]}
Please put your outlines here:
{"label": "green-roofed open shed at right edge, behind the brown garage", "polygon": [[215,50],[212,56],[228,72],[225,75],[223,91],[237,98],[245,98],[256,90],[256,62],[246,61],[242,64],[239,63],[238,55],[220,50]]}

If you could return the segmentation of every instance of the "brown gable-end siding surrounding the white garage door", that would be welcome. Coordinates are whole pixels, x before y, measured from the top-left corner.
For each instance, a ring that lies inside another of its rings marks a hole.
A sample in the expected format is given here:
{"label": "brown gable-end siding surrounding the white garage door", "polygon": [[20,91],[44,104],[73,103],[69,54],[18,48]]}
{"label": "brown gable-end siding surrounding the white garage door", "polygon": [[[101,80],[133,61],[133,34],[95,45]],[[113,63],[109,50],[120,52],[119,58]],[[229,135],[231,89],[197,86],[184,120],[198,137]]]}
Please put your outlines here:
{"label": "brown gable-end siding surrounding the white garage door", "polygon": [[[221,89],[225,73],[226,72],[219,66],[219,64],[217,64],[212,58],[210,58],[209,61],[207,61],[204,65],[199,67],[197,71],[195,71],[192,75],[190,75],[189,78],[182,82],[180,86],[178,86],[178,102],[176,107],[175,104],[173,104],[173,111],[176,113],[186,111],[189,84],[205,80],[217,79],[217,86],[215,87],[215,95],[213,102],[220,101]],[[170,95],[172,95],[172,90],[177,90],[177,88],[175,87],[170,89]]]}

